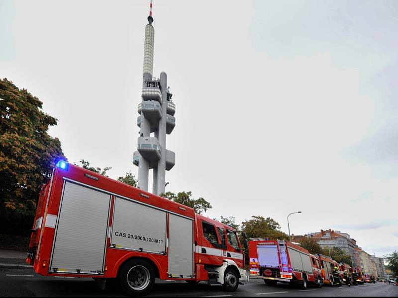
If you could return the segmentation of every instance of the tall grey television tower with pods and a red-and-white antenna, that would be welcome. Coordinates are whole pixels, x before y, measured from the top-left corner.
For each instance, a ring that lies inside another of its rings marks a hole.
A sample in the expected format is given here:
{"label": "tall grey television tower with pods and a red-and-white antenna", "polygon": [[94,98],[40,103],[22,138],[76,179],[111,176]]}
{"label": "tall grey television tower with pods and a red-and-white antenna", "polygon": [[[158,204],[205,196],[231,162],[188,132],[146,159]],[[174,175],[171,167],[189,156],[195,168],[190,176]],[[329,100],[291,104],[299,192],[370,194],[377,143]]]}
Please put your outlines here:
{"label": "tall grey television tower with pods and a red-and-white antenna", "polygon": [[[148,191],[149,169],[153,169],[152,193],[165,192],[166,170],[175,164],[176,154],[166,149],[166,134],[170,135],[176,126],[176,106],[173,94],[167,87],[167,74],[160,78],[152,76],[155,29],[152,26],[152,0],[148,24],[145,26],[144,71],[142,77],[142,101],[138,104],[137,125],[140,128],[137,151],[133,163],[138,166],[138,188]],[[153,133],[153,136],[151,134]]]}

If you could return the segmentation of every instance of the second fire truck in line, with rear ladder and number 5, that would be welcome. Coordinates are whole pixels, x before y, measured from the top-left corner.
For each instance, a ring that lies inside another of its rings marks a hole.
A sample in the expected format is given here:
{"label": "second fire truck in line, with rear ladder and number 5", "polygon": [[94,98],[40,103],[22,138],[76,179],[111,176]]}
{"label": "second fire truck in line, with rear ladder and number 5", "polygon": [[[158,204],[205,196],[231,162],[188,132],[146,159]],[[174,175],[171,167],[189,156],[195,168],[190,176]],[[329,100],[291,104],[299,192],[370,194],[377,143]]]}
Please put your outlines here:
{"label": "second fire truck in line, with rear ladder and number 5", "polygon": [[308,283],[321,287],[319,262],[308,250],[285,240],[249,241],[250,275],[264,279],[268,285],[277,282],[297,283],[303,289]]}

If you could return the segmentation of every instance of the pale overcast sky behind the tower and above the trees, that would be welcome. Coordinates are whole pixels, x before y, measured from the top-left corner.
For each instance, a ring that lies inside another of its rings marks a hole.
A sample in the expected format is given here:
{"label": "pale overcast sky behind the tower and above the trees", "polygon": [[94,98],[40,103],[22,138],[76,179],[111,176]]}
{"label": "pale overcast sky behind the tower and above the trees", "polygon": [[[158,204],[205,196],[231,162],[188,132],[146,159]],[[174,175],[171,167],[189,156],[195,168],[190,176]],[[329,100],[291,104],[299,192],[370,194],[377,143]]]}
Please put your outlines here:
{"label": "pale overcast sky behind the tower and above the trees", "polygon": [[[137,176],[149,0],[0,0],[0,77],[58,119],[70,162]],[[210,218],[271,217],[398,250],[398,1],[154,0],[176,165]],[[150,181],[152,181],[150,171]],[[150,185],[150,189],[151,185]]]}

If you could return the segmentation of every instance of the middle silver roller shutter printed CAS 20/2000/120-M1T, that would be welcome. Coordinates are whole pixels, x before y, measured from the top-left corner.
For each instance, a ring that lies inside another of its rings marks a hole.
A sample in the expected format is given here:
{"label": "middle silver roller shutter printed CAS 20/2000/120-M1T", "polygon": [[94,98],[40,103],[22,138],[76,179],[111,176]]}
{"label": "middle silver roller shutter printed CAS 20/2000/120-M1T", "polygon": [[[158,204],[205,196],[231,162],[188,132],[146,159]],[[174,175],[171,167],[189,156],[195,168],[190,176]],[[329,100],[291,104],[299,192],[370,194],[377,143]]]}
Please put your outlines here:
{"label": "middle silver roller shutter printed CAS 20/2000/120-M1T", "polygon": [[115,198],[111,246],[165,254],[166,227],[166,212]]}

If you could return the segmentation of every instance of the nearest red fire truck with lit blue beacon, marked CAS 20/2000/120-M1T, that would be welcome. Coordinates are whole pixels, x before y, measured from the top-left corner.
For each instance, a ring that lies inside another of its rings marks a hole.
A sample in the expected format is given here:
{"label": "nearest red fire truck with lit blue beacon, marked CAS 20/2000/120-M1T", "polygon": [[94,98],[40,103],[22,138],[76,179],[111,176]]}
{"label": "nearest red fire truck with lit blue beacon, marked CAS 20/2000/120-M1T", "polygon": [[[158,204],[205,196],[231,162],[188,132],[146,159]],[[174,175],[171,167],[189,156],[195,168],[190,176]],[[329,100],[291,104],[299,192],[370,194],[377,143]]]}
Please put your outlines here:
{"label": "nearest red fire truck with lit blue beacon, marked CAS 20/2000/120-M1T", "polygon": [[38,274],[115,278],[132,296],[148,294],[155,278],[230,292],[249,280],[230,226],[65,161],[41,188],[29,246]]}

